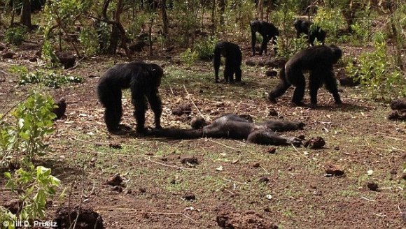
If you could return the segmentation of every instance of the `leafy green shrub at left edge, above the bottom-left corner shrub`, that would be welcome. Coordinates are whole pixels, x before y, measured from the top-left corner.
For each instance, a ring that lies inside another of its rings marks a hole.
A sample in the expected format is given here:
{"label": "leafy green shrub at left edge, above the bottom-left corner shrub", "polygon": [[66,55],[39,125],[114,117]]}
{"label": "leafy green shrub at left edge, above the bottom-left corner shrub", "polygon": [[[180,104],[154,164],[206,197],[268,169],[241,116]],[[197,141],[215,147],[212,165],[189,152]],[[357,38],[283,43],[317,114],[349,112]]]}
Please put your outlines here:
{"label": "leafy green shrub at left edge, above the bottom-left corner shrub", "polygon": [[13,165],[20,159],[28,163],[44,154],[43,140],[53,132],[54,106],[52,97],[33,94],[13,110],[13,120],[0,125],[0,164]]}

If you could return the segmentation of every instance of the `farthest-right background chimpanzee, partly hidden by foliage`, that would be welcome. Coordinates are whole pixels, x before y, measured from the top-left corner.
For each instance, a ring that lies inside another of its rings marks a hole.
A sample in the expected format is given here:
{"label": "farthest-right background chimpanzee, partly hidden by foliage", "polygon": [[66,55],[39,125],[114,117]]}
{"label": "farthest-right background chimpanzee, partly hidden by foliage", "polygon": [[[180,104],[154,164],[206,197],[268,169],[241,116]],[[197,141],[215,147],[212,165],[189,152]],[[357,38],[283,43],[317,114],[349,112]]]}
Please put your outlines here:
{"label": "farthest-right background chimpanzee, partly hidden by foliage", "polygon": [[311,46],[314,46],[314,40],[316,40],[316,38],[319,42],[321,42],[322,45],[324,45],[326,33],[320,27],[314,26],[314,28],[310,29],[310,22],[304,20],[295,20],[293,25],[296,29],[296,38],[299,38],[300,34],[306,34],[307,42]]}

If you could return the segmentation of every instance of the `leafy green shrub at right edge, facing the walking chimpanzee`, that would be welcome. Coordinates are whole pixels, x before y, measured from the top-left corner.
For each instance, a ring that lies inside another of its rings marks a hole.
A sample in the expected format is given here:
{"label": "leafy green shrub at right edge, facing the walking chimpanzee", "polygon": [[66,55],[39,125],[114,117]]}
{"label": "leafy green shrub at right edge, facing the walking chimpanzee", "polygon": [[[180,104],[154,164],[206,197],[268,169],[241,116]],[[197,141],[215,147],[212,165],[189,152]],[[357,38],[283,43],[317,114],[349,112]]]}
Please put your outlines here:
{"label": "leafy green shrub at right edge, facing the walking chimpanzee", "polygon": [[388,55],[386,43],[375,42],[374,47],[373,52],[361,54],[357,64],[350,62],[346,71],[370,91],[372,98],[390,100],[406,96],[406,79]]}

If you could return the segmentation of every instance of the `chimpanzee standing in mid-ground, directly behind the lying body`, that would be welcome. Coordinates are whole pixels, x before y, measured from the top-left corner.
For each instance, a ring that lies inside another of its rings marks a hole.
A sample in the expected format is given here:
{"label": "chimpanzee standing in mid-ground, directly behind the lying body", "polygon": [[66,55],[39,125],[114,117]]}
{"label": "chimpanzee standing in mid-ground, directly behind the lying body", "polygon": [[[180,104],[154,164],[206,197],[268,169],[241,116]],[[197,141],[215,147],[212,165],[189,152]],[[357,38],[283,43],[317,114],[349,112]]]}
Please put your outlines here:
{"label": "chimpanzee standing in mid-ground, directly behind the lying body", "polygon": [[225,82],[241,82],[241,61],[242,54],[239,50],[239,46],[235,43],[228,41],[220,41],[214,47],[214,74],[216,76],[216,82],[218,82],[218,68],[220,68],[221,56],[225,57],[224,67],[224,80]]}

